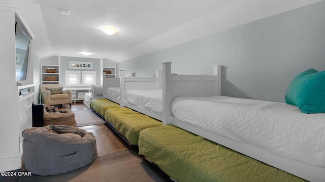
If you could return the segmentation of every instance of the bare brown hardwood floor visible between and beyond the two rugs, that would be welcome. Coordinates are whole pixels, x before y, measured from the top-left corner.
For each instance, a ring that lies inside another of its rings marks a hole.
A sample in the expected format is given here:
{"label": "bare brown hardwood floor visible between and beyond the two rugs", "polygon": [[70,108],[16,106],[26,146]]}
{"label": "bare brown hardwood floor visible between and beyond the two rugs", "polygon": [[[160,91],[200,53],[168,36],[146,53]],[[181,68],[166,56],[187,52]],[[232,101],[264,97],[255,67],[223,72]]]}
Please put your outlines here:
{"label": "bare brown hardwood floor visible between and beyond the two rugs", "polygon": [[[73,103],[71,108],[69,105],[62,105],[59,109],[70,109],[73,112],[88,110],[89,108],[83,103]],[[80,126],[79,128],[90,131],[96,136],[98,156],[131,149],[107,124]]]}

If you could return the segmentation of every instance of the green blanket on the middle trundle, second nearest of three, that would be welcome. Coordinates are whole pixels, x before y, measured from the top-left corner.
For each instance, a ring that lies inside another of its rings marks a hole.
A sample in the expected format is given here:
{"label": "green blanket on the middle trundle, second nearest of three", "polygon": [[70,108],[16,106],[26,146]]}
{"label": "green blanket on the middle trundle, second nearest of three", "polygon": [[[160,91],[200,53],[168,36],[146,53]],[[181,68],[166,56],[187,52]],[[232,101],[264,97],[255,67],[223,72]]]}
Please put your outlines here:
{"label": "green blanket on the middle trundle, second nearest of three", "polygon": [[142,129],[163,125],[156,119],[128,108],[107,109],[104,118],[125,136],[131,145],[138,145],[139,133]]}

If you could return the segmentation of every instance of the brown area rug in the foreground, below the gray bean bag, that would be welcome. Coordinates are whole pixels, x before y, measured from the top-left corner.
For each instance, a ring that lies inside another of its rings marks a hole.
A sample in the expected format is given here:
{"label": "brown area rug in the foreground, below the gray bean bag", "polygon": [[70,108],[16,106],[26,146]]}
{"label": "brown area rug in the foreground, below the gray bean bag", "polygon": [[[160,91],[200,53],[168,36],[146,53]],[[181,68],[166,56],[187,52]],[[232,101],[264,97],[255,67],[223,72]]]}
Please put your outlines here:
{"label": "brown area rug in the foreground, below the gray bean bag", "polygon": [[52,176],[20,176],[18,181],[168,181],[134,151],[100,156],[87,166]]}

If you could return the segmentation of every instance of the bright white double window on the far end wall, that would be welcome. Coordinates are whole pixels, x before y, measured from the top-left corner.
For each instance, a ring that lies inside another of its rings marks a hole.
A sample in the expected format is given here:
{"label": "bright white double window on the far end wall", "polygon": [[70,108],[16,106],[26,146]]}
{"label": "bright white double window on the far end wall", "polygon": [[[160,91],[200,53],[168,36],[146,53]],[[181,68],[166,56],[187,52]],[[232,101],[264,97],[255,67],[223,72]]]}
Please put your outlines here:
{"label": "bright white double window on the far end wall", "polygon": [[90,86],[96,84],[96,71],[66,70],[66,86]]}

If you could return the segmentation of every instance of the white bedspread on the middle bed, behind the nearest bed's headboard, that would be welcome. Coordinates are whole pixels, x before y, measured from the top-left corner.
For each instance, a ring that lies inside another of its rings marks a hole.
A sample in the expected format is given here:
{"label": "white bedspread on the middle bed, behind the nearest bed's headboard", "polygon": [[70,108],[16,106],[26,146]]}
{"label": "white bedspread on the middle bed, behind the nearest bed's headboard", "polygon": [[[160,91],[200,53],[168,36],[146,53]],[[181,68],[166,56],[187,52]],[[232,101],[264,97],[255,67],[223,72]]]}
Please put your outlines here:
{"label": "white bedspread on the middle bed, behind the nearest bed's headboard", "polygon": [[163,90],[128,90],[125,95],[129,104],[141,106],[153,112],[163,112]]}

